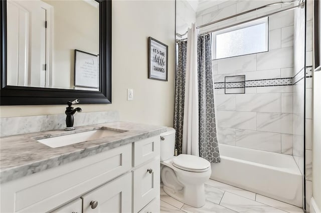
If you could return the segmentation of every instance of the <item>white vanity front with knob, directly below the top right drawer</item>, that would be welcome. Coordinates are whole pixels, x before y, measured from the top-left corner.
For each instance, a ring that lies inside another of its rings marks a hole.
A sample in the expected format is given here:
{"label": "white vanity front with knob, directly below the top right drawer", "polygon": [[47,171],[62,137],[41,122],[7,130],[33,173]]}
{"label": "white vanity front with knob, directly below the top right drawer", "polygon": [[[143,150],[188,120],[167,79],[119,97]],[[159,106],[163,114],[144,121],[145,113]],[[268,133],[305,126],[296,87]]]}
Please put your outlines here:
{"label": "white vanity front with knob, directly below the top right drawer", "polygon": [[133,212],[159,195],[159,163],[154,159],[133,171]]}

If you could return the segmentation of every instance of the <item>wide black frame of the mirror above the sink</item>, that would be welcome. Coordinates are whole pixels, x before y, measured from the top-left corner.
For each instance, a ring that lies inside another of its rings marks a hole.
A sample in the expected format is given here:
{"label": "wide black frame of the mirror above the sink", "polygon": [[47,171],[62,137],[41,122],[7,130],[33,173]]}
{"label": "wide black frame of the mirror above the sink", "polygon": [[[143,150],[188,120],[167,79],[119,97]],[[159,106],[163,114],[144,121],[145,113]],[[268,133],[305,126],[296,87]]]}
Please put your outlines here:
{"label": "wide black frame of the mirror above the sink", "polygon": [[99,91],[7,85],[7,0],[1,0],[0,105],[111,103],[111,0],[99,2]]}

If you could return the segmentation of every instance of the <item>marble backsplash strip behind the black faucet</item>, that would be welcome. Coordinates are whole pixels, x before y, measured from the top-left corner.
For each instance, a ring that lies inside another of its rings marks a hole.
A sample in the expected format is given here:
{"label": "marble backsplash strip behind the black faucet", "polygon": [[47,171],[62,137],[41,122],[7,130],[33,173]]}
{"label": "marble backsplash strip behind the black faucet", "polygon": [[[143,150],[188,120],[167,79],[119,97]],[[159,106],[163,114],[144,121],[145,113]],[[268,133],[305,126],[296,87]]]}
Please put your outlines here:
{"label": "marble backsplash strip behind the black faucet", "polygon": [[[74,114],[74,119],[74,126],[113,122],[119,120],[119,113],[118,111],[77,112]],[[2,137],[65,127],[66,114],[0,118]]]}

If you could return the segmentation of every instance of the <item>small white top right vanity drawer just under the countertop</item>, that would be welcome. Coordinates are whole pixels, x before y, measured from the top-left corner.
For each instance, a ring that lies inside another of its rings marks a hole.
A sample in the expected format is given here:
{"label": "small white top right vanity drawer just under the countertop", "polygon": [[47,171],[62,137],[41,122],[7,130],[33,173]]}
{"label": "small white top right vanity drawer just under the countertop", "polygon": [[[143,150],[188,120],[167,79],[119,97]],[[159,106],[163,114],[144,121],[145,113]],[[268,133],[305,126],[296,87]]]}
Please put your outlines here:
{"label": "small white top right vanity drawer just under the countertop", "polygon": [[135,141],[133,166],[137,166],[159,155],[159,135]]}

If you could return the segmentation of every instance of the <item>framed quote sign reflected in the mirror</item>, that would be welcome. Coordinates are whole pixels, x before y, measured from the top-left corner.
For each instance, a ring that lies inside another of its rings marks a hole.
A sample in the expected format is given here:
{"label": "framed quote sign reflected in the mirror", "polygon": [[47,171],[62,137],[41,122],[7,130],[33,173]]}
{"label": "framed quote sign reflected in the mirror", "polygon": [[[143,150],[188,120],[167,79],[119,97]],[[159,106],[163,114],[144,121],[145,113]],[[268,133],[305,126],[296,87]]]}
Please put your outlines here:
{"label": "framed quote sign reflected in the mirror", "polygon": [[98,55],[75,49],[75,86],[98,88]]}

